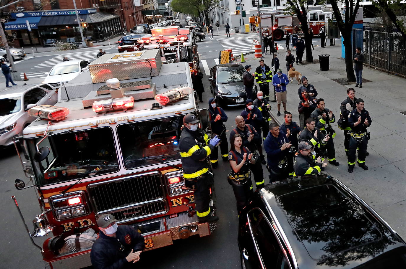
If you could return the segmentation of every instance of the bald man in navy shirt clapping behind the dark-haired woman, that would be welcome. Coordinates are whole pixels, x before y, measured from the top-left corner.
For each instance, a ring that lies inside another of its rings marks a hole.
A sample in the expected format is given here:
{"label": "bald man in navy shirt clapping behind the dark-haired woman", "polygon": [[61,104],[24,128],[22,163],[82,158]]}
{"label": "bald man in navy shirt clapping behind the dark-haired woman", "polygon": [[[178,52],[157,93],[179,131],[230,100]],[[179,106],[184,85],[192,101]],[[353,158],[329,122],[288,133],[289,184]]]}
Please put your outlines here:
{"label": "bald man in navy shirt clapping behind the dark-haired woman", "polygon": [[249,124],[245,124],[242,116],[235,117],[235,124],[237,126],[230,132],[230,142],[235,134],[240,134],[242,137],[242,145],[247,147],[251,153],[254,154],[255,164],[250,163],[250,169],[253,172],[254,180],[258,188],[262,188],[265,185],[263,179],[262,164],[259,161],[258,153],[255,153],[258,147],[261,147],[262,139],[257,133],[257,130]]}

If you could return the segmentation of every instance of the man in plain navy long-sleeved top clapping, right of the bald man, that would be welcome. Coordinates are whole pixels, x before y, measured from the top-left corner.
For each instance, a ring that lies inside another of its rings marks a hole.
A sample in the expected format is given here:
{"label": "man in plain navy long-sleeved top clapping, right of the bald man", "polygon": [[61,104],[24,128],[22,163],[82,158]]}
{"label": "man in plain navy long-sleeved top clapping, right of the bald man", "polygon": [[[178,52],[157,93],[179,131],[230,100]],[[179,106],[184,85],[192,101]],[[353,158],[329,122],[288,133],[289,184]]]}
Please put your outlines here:
{"label": "man in plain navy long-sleeved top clapping, right of the bald man", "polygon": [[268,160],[266,168],[269,171],[269,182],[274,182],[287,178],[289,173],[293,174],[293,156],[289,154],[292,144],[285,133],[279,130],[278,124],[272,122],[269,129],[263,147]]}

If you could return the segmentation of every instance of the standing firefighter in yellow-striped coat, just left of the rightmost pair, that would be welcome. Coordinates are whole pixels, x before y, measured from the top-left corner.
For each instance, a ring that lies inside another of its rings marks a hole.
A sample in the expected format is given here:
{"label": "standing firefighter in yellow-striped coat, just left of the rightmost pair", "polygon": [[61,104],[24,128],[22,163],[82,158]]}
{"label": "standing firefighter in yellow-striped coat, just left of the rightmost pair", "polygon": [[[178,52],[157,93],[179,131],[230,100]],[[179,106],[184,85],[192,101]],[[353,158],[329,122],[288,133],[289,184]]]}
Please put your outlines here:
{"label": "standing firefighter in yellow-striped coat, just left of the rightmost pair", "polygon": [[333,130],[333,127],[331,127],[331,124],[335,122],[335,115],[333,114],[333,111],[325,108],[323,98],[317,99],[317,108],[311,113],[310,117],[313,118],[316,127],[319,128],[324,136],[327,134],[330,136],[330,139],[328,139],[327,144],[324,146],[324,149],[327,151],[327,160],[330,164],[339,166],[339,162],[335,160],[333,140],[335,137],[335,131]]}

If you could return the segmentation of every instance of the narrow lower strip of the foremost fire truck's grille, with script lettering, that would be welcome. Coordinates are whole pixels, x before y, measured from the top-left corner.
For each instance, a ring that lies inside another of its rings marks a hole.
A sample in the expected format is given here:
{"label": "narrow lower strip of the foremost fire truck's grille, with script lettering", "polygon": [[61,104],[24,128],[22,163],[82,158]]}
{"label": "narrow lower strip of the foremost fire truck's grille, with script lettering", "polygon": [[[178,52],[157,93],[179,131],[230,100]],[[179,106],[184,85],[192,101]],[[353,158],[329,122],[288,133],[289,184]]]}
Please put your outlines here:
{"label": "narrow lower strip of the foremost fire truck's grille, with script lettering", "polygon": [[131,209],[125,209],[118,212],[112,212],[111,214],[120,222],[125,222],[130,219],[137,219],[144,216],[149,216],[156,213],[166,212],[166,202],[160,201],[157,203],[149,203],[147,205],[141,205]]}

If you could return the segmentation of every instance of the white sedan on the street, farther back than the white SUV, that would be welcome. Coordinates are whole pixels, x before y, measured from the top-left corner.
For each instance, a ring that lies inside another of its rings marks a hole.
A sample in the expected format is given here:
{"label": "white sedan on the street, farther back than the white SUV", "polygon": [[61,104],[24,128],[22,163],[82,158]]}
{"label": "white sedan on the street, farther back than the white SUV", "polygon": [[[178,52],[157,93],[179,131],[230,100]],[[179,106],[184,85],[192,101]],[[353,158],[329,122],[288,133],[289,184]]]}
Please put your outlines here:
{"label": "white sedan on the street, farther back than the white SUV", "polygon": [[90,62],[86,60],[70,60],[60,62],[52,67],[43,83],[51,85],[54,89],[59,89],[80,73],[89,70]]}

